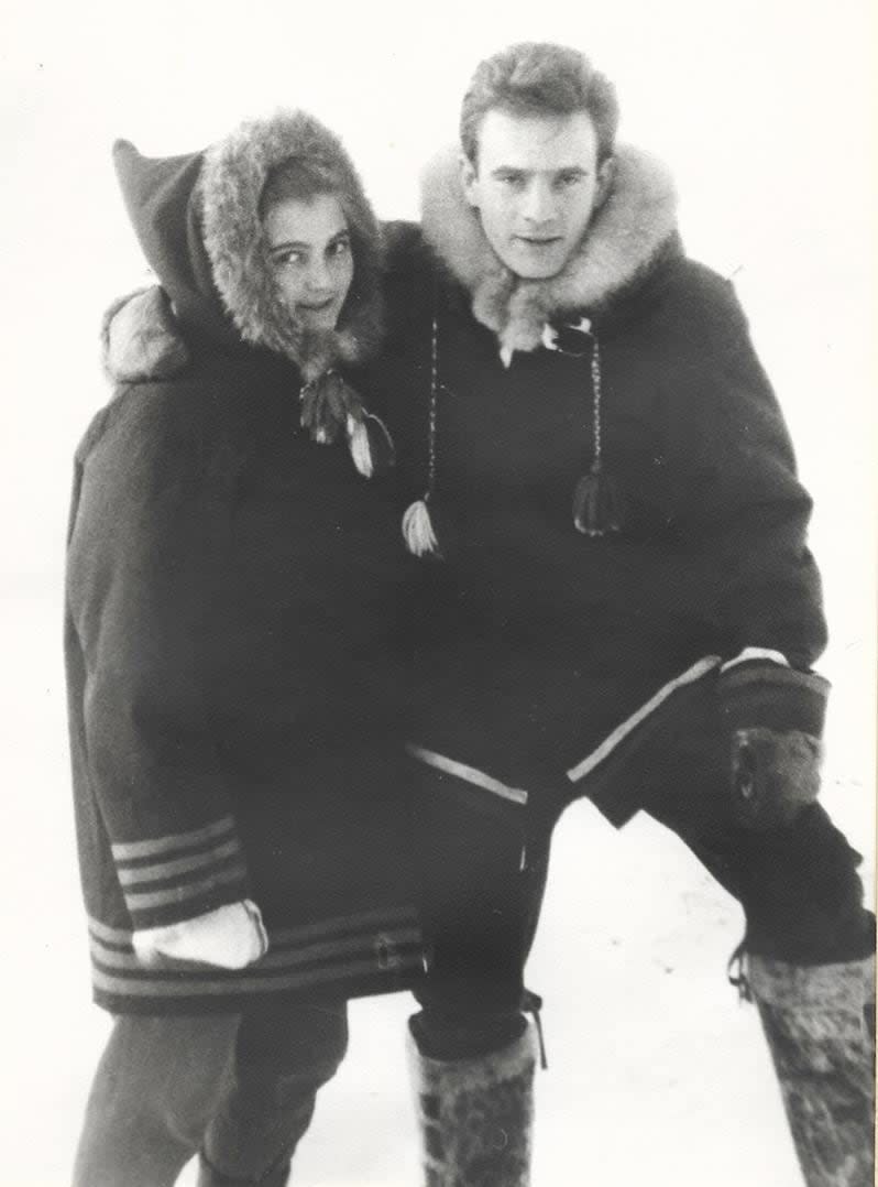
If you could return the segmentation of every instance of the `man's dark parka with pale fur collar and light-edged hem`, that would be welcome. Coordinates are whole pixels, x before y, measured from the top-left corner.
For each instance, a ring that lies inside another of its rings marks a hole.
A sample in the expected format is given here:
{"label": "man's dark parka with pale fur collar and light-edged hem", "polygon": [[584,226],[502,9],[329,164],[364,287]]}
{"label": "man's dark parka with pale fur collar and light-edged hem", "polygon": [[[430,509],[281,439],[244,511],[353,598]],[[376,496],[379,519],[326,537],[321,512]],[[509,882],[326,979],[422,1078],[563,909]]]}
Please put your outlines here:
{"label": "man's dark parka with pale fur collar and light-edged hem", "polygon": [[[807,668],[826,639],[810,499],[732,286],[686,259],[663,167],[617,166],[562,273],[523,281],[440,158],[422,230],[394,231],[375,368],[444,558],[422,561],[414,750],[549,813],[692,678],[745,647]],[[590,537],[598,433],[624,516]],[[643,780],[615,766],[612,794]]]}

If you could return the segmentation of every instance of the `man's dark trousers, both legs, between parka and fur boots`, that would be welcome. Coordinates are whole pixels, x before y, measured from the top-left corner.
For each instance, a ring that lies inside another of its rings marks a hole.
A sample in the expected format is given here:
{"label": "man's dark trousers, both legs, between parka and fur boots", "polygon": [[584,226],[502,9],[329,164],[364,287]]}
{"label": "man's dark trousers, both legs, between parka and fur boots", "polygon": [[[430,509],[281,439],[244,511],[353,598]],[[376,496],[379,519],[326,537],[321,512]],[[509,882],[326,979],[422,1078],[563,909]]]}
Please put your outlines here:
{"label": "man's dark trousers, both legs, between parka and fur boots", "polygon": [[[822,806],[810,805],[787,827],[752,832],[736,821],[719,763],[694,763],[687,770],[698,777],[669,781],[643,807],[742,903],[747,951],[797,965],[859,960],[874,951],[861,858]],[[523,969],[548,842],[530,840],[526,849],[515,810],[497,810],[490,793],[454,776],[422,767],[414,786],[431,959],[411,1028],[421,1054],[470,1058],[524,1027]]]}

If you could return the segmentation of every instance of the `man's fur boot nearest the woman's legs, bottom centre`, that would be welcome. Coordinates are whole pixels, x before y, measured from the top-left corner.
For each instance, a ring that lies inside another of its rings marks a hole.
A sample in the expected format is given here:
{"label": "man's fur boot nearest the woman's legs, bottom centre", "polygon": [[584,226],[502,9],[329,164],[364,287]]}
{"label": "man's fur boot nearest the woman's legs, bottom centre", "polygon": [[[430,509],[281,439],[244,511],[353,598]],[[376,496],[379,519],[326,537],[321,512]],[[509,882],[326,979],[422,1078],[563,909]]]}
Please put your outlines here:
{"label": "man's fur boot nearest the woman's legs, bottom centre", "polygon": [[536,1040],[533,1024],[500,1050],[427,1059],[409,1039],[426,1187],[528,1187]]}

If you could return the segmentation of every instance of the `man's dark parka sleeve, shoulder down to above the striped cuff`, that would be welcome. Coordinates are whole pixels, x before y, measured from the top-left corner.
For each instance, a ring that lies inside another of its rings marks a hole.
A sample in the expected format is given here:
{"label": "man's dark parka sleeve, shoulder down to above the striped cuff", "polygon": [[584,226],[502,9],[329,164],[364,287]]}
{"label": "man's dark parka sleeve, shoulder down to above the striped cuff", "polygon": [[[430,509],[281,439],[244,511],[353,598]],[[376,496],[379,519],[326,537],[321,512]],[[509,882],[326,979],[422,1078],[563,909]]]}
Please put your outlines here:
{"label": "man's dark parka sleeve, shoulder down to above the striped cuff", "polygon": [[[681,476],[672,520],[729,655],[744,647],[809,667],[826,646],[812,499],[732,286],[713,278],[676,372],[668,451]],[[681,424],[680,419],[686,423]]]}

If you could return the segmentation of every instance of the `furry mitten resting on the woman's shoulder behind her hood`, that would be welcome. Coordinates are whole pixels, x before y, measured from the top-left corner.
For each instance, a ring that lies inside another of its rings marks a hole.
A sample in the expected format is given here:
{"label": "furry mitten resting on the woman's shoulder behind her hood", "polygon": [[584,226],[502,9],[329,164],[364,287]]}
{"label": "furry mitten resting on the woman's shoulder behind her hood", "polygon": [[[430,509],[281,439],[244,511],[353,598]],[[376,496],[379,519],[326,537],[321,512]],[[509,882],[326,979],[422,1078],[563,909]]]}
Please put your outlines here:
{"label": "furry mitten resting on the woman's shoulder behind her hood", "polygon": [[120,297],[103,316],[103,363],[112,380],[167,379],[189,362],[171,301],[158,285]]}

